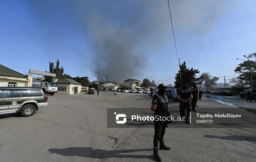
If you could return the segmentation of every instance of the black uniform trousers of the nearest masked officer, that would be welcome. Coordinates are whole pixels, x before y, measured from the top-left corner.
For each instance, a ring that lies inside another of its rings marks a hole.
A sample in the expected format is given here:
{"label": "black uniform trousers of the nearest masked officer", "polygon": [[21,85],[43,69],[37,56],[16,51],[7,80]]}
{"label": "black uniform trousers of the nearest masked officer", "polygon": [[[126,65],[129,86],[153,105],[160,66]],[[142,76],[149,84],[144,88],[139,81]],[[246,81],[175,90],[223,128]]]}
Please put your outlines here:
{"label": "black uniform trousers of the nearest masked officer", "polygon": [[167,121],[154,121],[154,151],[158,150],[158,143],[160,146],[164,145],[163,136],[165,134]]}

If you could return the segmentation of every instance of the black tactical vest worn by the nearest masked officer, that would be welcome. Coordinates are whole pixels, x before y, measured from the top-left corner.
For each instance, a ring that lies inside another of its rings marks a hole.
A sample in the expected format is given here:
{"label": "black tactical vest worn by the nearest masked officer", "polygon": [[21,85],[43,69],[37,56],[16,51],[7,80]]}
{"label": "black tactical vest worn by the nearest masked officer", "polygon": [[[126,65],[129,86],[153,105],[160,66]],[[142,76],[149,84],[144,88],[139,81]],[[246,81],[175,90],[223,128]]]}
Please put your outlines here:
{"label": "black tactical vest worn by the nearest masked officer", "polygon": [[155,110],[155,115],[159,115],[159,116],[168,116],[168,98],[167,95],[157,95],[157,108]]}

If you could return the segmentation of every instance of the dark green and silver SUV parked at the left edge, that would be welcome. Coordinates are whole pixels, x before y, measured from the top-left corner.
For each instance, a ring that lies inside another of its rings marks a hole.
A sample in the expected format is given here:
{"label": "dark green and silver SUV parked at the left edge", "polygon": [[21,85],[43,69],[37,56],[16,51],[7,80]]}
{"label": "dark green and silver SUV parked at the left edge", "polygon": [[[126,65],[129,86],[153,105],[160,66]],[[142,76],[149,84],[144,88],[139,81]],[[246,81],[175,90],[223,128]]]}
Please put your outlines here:
{"label": "dark green and silver SUV parked at the left edge", "polygon": [[24,117],[32,116],[48,105],[47,99],[41,88],[0,87],[0,113],[16,111]]}

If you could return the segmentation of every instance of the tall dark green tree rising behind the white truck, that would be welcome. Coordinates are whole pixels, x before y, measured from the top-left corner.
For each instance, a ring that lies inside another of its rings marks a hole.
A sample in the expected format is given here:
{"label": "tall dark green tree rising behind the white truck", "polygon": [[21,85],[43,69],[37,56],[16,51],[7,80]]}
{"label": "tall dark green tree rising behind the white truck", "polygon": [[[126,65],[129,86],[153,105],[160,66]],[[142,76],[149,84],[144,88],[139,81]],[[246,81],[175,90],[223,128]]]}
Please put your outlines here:
{"label": "tall dark green tree rising behind the white truck", "polygon": [[[47,71],[45,71],[45,72],[47,72]],[[57,61],[56,61],[56,66],[54,66],[53,62],[49,61],[49,73],[56,74],[56,79],[63,78],[64,68],[60,67],[59,59],[57,59]],[[44,76],[44,78],[45,78],[44,81],[52,81],[52,77],[51,76]]]}

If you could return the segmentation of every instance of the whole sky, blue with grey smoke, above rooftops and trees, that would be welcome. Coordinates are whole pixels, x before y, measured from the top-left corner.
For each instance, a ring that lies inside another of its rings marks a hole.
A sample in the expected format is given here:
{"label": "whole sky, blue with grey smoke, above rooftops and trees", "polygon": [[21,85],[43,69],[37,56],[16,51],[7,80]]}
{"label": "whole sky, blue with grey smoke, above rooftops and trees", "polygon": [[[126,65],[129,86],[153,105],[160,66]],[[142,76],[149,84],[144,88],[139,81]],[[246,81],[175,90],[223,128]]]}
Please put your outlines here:
{"label": "whole sky, blue with grey smoke, above rooftops and trees", "polygon": [[[1,0],[0,64],[91,81],[174,84],[180,64],[224,82],[256,52],[254,0]],[[199,74],[200,75],[200,74]],[[41,77],[35,75],[35,77]]]}

